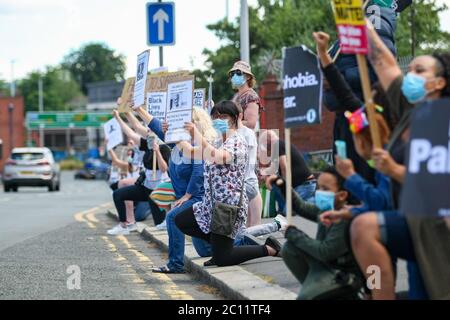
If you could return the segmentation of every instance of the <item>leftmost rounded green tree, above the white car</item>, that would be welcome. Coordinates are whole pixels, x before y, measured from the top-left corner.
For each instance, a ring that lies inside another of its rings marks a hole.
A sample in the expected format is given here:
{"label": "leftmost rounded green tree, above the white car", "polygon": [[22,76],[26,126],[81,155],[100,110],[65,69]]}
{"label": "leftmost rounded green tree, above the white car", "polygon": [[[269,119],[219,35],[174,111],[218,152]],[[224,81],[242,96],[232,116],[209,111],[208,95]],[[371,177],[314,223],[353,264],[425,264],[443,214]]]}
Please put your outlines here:
{"label": "leftmost rounded green tree, above the white car", "polygon": [[44,74],[31,72],[19,82],[26,111],[39,109],[39,78],[42,76],[45,111],[69,111],[81,107],[85,100],[70,72],[61,67],[47,67]]}

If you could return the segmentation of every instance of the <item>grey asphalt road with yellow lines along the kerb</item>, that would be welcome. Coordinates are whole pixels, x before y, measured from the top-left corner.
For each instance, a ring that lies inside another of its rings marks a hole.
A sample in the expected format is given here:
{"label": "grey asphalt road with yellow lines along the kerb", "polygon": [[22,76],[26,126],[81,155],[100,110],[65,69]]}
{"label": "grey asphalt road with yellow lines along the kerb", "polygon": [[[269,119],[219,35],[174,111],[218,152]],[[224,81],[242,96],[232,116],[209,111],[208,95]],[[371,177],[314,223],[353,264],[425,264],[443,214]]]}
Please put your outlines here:
{"label": "grey asphalt road with yellow lines along the kerb", "polygon": [[72,172],[61,192],[0,193],[0,299],[223,299],[189,274],[151,273],[167,255],[137,233],[107,236],[110,201],[104,181]]}

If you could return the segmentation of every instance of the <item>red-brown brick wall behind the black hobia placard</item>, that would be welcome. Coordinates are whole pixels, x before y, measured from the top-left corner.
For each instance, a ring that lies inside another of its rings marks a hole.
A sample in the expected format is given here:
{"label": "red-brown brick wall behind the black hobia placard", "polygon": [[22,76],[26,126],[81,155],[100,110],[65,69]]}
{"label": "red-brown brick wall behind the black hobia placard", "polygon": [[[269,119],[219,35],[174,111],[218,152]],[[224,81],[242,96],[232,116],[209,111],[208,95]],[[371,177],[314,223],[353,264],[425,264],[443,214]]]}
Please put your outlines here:
{"label": "red-brown brick wall behind the black hobia placard", "polygon": [[[267,76],[262,82],[260,95],[265,106],[261,116],[261,128],[279,129],[284,139],[283,91],[275,76]],[[302,152],[332,149],[334,113],[322,108],[322,123],[291,130],[291,141]]]}

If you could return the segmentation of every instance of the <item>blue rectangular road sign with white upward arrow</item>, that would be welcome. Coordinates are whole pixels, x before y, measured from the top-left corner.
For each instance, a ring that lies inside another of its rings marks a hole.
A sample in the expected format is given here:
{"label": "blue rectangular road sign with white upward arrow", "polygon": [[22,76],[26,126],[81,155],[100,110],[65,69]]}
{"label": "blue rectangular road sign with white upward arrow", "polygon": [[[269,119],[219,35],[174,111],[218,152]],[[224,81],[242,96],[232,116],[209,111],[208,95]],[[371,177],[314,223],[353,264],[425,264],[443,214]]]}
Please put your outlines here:
{"label": "blue rectangular road sign with white upward arrow", "polygon": [[175,44],[175,4],[147,3],[147,44],[172,46]]}

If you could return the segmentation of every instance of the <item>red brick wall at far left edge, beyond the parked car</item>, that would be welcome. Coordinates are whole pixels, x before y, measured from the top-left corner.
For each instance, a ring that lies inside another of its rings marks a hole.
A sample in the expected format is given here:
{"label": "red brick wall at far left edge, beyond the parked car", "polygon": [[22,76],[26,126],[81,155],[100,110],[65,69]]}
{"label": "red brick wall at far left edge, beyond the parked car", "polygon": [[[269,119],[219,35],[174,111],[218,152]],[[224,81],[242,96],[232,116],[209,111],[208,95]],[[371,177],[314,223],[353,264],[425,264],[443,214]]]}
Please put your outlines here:
{"label": "red brick wall at far left edge, beyond the parked car", "polygon": [[10,131],[8,106],[12,103],[14,109],[13,118],[13,145],[12,147],[23,147],[25,141],[24,128],[24,103],[22,97],[0,98],[0,139],[3,140],[3,156],[0,159],[0,172],[3,171],[5,160],[9,157]]}

